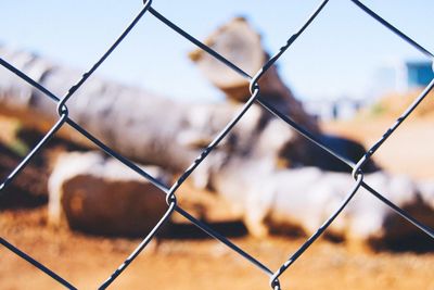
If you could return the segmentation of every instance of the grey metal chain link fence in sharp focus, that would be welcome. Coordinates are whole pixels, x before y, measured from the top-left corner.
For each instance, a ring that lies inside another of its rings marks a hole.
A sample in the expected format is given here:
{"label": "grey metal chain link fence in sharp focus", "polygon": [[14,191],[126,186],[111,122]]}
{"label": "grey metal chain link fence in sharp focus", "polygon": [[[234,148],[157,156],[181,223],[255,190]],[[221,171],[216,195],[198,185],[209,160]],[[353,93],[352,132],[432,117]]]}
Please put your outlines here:
{"label": "grey metal chain link fence in sharp focus", "polygon": [[[17,75],[21,77],[23,80],[35,87],[37,90],[41,91],[46,97],[52,99],[54,102],[58,104],[58,114],[59,114],[59,119],[54,124],[54,126],[44,135],[44,137],[38,142],[38,144],[27,154],[27,156],[16,166],[16,168],[7,177],[7,179],[0,185],[0,193],[1,191],[10,185],[10,182],[20,174],[20,172],[29,163],[29,161],[38,154],[38,152],[43,148],[43,146],[50,140],[51,137],[55,135],[55,133],[63,126],[71,126],[74,129],[76,129],[78,133],[84,135],[86,138],[88,138],[90,141],[92,141],[94,144],[97,144],[101,150],[105,151],[107,154],[112,155],[113,157],[117,159],[122,163],[125,164],[125,166],[128,166],[129,168],[133,169],[138,174],[140,174],[143,178],[146,178],[150,182],[152,182],[155,187],[159,188],[163,190],[166,194],[166,202],[167,202],[167,210],[165,214],[161,217],[159,222],[155,225],[155,227],[152,229],[152,231],[142,240],[142,242],[136,248],[136,250],[125,260],[125,262],[118,266],[113,274],[101,283],[100,289],[105,289],[107,288],[127,267],[128,265],[140,254],[140,252],[149,244],[149,242],[155,237],[156,232],[162,228],[162,226],[169,219],[171,214],[174,212],[178,212],[182,216],[184,216],[187,219],[189,219],[192,224],[201,228],[203,231],[205,231],[207,235],[210,237],[217,239],[231,250],[235,251],[240,257],[244,259],[246,263],[252,263],[254,264],[257,268],[259,268],[265,275],[268,276],[269,278],[269,283],[271,289],[281,289],[279,278],[280,276],[289,270],[291,265],[299,259],[303,253],[327,230],[327,228],[333,223],[333,220],[340,215],[340,213],[346,207],[348,202],[355,197],[355,194],[358,192],[360,188],[367,189],[371,194],[373,194],[379,202],[385,203],[387,206],[390,206],[393,211],[395,211],[397,214],[403,216],[405,219],[413,224],[416,227],[418,227],[421,231],[426,234],[429,237],[434,239],[434,231],[433,229],[429,228],[427,226],[419,223],[417,219],[414,219],[412,216],[407,214],[404,210],[400,207],[396,206],[393,202],[391,202],[388,199],[383,197],[380,192],[375,191],[373,188],[371,188],[368,184],[363,181],[363,165],[374,155],[374,153],[378,151],[378,149],[387,140],[387,138],[394,134],[394,131],[403,124],[403,122],[414,111],[414,109],[422,102],[422,100],[427,96],[427,93],[433,89],[434,87],[434,80],[432,80],[427,87],[420,93],[420,96],[413,101],[413,103],[397,118],[397,121],[384,133],[384,135],[378,140],[367,152],[366,154],[357,162],[354,163],[344,156],[342,156],[339,152],[333,151],[332,149],[328,148],[323,143],[321,143],[320,140],[318,140],[314,134],[309,133],[308,130],[304,129],[299,124],[294,122],[290,116],[279,112],[276,108],[273,108],[271,104],[267,102],[267,100],[263,99],[260,96],[260,88],[258,85],[259,79],[264,76],[264,74],[269,70],[280,58],[281,55],[297,40],[297,38],[305,31],[305,29],[314,22],[314,20],[321,13],[323,8],[328,4],[328,0],[322,1],[319,7],[314,11],[314,13],[307,18],[307,21],[303,24],[303,26],[295,33],[293,34],[286,42],[281,47],[281,49],[272,55],[267,63],[253,76],[250,74],[245,73],[242,68],[237,66],[235,64],[231,63],[228,61],[226,58],[221,56],[219,53],[214,51],[212,48],[208,46],[204,45],[203,42],[199,41],[196,38],[194,38],[192,35],[190,35],[188,31],[181,29],[178,27],[175,23],[173,23],[170,20],[166,18],[164,15],[158,13],[153,7],[152,7],[152,1],[148,0],[144,1],[143,8],[140,11],[140,13],[132,20],[131,24],[124,30],[124,33],[120,35],[120,37],[113,43],[112,47],[108,48],[108,50],[102,55],[100,60],[98,60],[94,65],[86,72],[82,77],[74,85],[71,87],[71,89],[63,96],[63,97],[58,97],[51,91],[49,91],[47,88],[42,87],[39,85],[37,81],[31,79],[29,76],[14,67],[12,64],[8,63],[3,59],[0,59],[0,64],[9,70],[11,73]],[[369,16],[378,21],[381,25],[385,26],[388,28],[392,33],[396,34],[399,36],[404,41],[407,41],[410,43],[412,47],[421,51],[424,55],[426,55],[430,59],[434,59],[434,55],[432,52],[417,43],[414,40],[412,40],[410,37],[401,33],[399,29],[391,25],[387,21],[385,21],[383,17],[378,15],[375,12],[367,8],[365,4],[357,0],[352,0],[352,2],[357,5],[360,10],[362,10],[365,13],[367,13]],[[250,90],[251,90],[251,97],[248,101],[246,101],[242,108],[242,110],[237,114],[237,116],[233,117],[233,119],[226,125],[226,127],[218,134],[218,136],[207,146],[206,149],[203,150],[203,152],[196,157],[196,160],[190,165],[189,168],[179,177],[179,179],[170,187],[166,187],[165,185],[161,184],[157,179],[153,178],[150,174],[146,172],[142,171],[140,167],[136,166],[131,161],[128,159],[124,157],[123,155],[118,154],[114,150],[112,150],[110,147],[105,146],[102,141],[93,137],[89,131],[87,131],[85,128],[79,126],[76,122],[74,122],[69,115],[68,115],[68,108],[67,108],[67,102],[71,98],[74,97],[74,93],[87,81],[87,79],[98,70],[98,67],[108,58],[108,55],[117,48],[117,46],[124,40],[124,38],[131,31],[131,29],[135,28],[136,24],[143,17],[144,14],[151,14],[152,16],[156,17],[158,21],[174,29],[176,33],[181,35],[182,37],[187,38],[189,41],[197,46],[200,49],[204,50],[205,52],[209,53],[213,55],[215,59],[227,65],[229,68],[233,70],[235,73],[240,74],[242,77],[246,78],[250,81]],[[248,111],[248,109],[254,104],[257,103],[268,110],[270,113],[285,122],[289,126],[294,128],[296,131],[302,134],[305,138],[314,142],[316,146],[320,147],[323,151],[326,151],[328,154],[331,154],[335,159],[340,160],[347,166],[352,168],[352,176],[354,177],[354,187],[348,191],[347,196],[345,199],[342,201],[341,205],[334,211],[334,213],[322,224],[320,228],[311,236],[309,237],[299,248],[297,251],[292,253],[289,259],[278,268],[278,269],[270,269],[267,265],[245,252],[244,250],[240,249],[235,244],[233,244],[231,241],[229,241],[226,237],[214,230],[213,228],[208,227],[204,223],[197,220],[194,218],[192,215],[190,215],[187,211],[182,210],[178,203],[177,203],[177,190],[179,187],[189,178],[189,176],[195,171],[195,168],[207,157],[207,155],[219,144],[219,142],[231,131],[231,129],[235,126],[235,124],[243,117],[243,115]],[[64,287],[68,289],[76,289],[71,282],[66,281],[64,278],[33,259],[30,255],[24,253],[10,242],[8,242],[5,239],[0,238],[0,243],[22,257],[23,260],[27,261],[28,263],[33,264],[35,267],[40,269],[42,273],[49,275],[51,278],[56,280],[59,283],[63,285]]]}

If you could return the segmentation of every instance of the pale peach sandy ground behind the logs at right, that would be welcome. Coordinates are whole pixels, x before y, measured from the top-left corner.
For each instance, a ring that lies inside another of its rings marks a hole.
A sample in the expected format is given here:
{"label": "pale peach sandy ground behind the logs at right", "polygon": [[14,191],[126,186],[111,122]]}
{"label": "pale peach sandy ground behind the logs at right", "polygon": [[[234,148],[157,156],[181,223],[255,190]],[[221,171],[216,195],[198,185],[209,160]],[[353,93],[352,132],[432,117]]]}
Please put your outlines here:
{"label": "pale peach sandy ground behind the logs at right", "polygon": [[[327,123],[328,133],[346,136],[361,142],[367,149],[373,146],[394,124],[394,118],[367,122]],[[434,117],[409,117],[374,153],[381,167],[395,174],[409,175],[417,179],[434,179]]]}

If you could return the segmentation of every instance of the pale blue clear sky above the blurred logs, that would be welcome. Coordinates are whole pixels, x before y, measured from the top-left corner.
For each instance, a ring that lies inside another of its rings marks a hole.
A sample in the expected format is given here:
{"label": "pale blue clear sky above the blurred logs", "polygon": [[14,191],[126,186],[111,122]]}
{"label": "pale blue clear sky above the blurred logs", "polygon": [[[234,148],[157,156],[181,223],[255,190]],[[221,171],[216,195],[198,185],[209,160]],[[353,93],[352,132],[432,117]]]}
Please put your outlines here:
{"label": "pale blue clear sky above the blurred logs", "polygon": [[[204,39],[233,16],[246,16],[276,52],[320,1],[154,0],[166,17]],[[414,40],[434,51],[434,1],[362,1]],[[2,0],[0,42],[36,51],[87,70],[139,13],[142,1]],[[189,41],[146,14],[99,75],[180,100],[221,98],[186,56]],[[375,72],[387,63],[423,55],[348,0],[331,0],[278,62],[301,99],[365,98]]]}

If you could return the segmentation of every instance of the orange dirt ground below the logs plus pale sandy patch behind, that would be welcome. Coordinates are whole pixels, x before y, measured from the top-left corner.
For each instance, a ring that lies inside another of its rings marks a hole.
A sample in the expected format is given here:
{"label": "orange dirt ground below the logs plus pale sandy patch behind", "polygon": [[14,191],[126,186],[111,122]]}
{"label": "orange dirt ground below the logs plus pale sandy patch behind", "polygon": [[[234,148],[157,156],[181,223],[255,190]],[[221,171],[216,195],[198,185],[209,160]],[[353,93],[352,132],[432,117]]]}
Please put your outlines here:
{"label": "orange dirt ground below the logs plus pale sandy patch behind", "polygon": [[[390,119],[327,124],[372,144]],[[406,123],[375,160],[387,171],[433,178],[434,122]],[[403,222],[405,223],[405,222]],[[140,239],[92,237],[47,226],[47,207],[3,210],[1,236],[79,289],[95,289],[129,255]],[[189,235],[187,235],[189,236]],[[207,238],[161,238],[119,276],[111,289],[270,289],[268,277],[221,243]],[[248,236],[231,240],[277,269],[304,241],[303,237]],[[432,289],[434,252],[354,251],[345,243],[316,242],[283,274],[283,289]],[[0,248],[0,289],[62,289],[15,254]]]}

